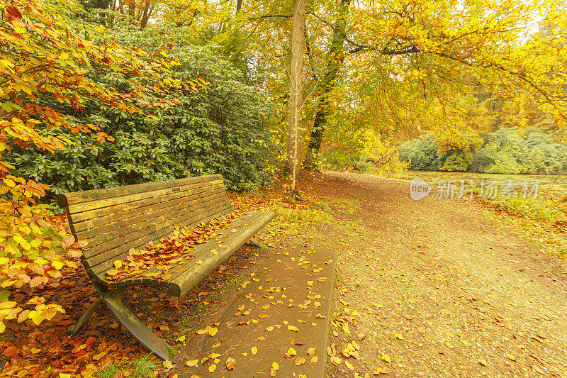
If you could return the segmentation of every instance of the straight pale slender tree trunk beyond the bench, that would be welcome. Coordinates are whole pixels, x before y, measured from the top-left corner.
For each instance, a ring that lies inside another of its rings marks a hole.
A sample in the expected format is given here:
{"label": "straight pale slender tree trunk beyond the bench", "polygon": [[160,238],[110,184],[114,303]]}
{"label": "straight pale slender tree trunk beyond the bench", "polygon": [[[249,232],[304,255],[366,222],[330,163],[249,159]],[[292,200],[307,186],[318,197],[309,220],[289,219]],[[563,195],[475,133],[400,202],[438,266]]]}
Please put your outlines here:
{"label": "straight pale slender tree trunk beyond the bench", "polygon": [[296,193],[298,149],[301,144],[303,108],[303,50],[305,48],[305,0],[293,0],[291,29],[291,78],[289,82],[289,127],[286,172],[291,174],[291,192]]}

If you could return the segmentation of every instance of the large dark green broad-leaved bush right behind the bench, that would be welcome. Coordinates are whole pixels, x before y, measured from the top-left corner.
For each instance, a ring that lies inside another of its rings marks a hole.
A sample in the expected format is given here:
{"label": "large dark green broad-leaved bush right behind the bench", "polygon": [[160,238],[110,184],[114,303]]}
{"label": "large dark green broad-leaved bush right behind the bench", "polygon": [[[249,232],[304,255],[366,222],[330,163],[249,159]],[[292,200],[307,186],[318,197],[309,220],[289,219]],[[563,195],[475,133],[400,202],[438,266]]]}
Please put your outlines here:
{"label": "large dark green broad-leaved bush right behind the bench", "polygon": [[[152,113],[130,114],[92,103],[79,115],[58,105],[74,123],[94,123],[114,141],[43,130],[43,135],[66,139],[66,147],[51,154],[16,146],[6,160],[21,177],[49,184],[54,194],[213,173],[223,174],[232,190],[262,182],[262,168],[270,161],[262,102],[242,74],[210,50],[186,46],[177,54],[181,65],[175,67],[175,78],[199,77],[209,84],[170,94],[171,104]],[[130,85],[106,74],[96,80],[123,91]]]}

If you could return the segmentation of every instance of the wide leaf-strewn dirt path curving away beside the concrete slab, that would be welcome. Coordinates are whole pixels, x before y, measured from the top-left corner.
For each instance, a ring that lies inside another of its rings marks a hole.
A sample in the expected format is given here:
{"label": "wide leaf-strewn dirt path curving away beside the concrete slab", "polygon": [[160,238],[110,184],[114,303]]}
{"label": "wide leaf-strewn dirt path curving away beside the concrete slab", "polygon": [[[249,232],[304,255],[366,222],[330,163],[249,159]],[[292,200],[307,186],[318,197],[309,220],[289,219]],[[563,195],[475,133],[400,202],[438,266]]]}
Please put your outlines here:
{"label": "wide leaf-strewn dirt path curving away beside the concrete slab", "polygon": [[[326,377],[376,368],[393,377],[567,377],[564,262],[491,226],[474,201],[413,201],[408,182],[327,172],[307,191],[331,209],[350,201],[356,211],[335,218],[360,226],[358,235],[320,226],[339,258],[331,343],[342,363]],[[359,360],[341,352],[353,339]]]}

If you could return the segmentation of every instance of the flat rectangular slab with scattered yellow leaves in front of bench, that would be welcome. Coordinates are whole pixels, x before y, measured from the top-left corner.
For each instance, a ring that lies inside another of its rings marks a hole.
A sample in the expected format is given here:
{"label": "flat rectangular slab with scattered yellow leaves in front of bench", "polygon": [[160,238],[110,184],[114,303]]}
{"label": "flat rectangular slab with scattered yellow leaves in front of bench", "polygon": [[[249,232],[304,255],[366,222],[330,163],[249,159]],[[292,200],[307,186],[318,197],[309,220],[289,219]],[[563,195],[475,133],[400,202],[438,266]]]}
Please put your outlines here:
{"label": "flat rectangular slab with scattered yellow leaves in front of bench", "polygon": [[[274,362],[279,366],[275,377],[323,376],[336,251],[298,248],[259,253],[257,264],[219,314],[218,326],[210,325],[218,333],[198,345],[198,366],[184,369],[183,377],[270,377]],[[236,362],[230,370],[229,357]],[[212,364],[215,369],[210,372]]]}

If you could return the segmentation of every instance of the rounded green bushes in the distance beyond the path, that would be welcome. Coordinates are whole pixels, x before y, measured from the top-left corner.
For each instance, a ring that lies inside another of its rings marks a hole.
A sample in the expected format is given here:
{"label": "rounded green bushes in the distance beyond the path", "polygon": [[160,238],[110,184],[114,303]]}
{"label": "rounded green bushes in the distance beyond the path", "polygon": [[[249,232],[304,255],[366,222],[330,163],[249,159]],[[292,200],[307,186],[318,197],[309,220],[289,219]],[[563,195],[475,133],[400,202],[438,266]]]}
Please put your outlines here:
{"label": "rounded green bushes in the distance beyond the path", "polygon": [[425,134],[400,146],[400,161],[424,171],[556,174],[567,172],[567,145],[534,128],[500,129],[486,133],[478,149],[441,151],[435,136]]}

